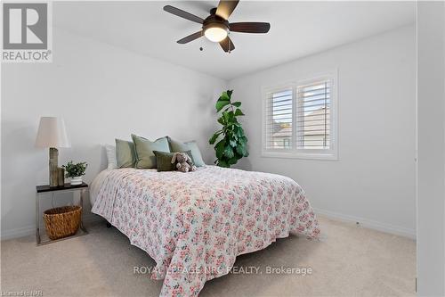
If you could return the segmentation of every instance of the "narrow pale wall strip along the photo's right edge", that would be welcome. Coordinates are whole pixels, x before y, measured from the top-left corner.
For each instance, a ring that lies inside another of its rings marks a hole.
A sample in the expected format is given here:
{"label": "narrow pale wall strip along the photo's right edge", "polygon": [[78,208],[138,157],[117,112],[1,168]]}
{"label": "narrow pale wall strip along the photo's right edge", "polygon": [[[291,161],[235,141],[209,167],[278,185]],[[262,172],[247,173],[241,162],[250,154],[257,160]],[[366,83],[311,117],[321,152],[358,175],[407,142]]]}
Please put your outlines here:
{"label": "narrow pale wall strip along the photo's right edge", "polygon": [[417,293],[445,296],[445,4],[417,3]]}

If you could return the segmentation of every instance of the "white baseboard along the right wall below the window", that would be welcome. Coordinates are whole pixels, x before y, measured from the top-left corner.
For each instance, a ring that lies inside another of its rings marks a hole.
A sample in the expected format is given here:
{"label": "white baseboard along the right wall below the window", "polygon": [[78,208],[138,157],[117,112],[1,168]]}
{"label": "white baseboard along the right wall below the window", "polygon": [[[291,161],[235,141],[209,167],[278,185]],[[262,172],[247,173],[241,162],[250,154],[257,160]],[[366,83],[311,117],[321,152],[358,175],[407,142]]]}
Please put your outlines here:
{"label": "white baseboard along the right wall below the window", "polygon": [[358,218],[350,215],[345,215],[343,213],[338,213],[330,210],[320,210],[317,208],[313,208],[315,213],[323,215],[325,217],[328,217],[330,219],[337,219],[348,223],[356,223],[359,222],[361,227],[367,227],[369,229],[374,229],[377,231],[382,231],[384,233],[389,233],[393,235],[401,235],[404,237],[409,237],[411,239],[416,239],[416,230],[405,228],[405,227],[399,227],[399,226],[393,226],[390,224],[385,224],[381,222],[377,222],[372,219],[363,219]]}

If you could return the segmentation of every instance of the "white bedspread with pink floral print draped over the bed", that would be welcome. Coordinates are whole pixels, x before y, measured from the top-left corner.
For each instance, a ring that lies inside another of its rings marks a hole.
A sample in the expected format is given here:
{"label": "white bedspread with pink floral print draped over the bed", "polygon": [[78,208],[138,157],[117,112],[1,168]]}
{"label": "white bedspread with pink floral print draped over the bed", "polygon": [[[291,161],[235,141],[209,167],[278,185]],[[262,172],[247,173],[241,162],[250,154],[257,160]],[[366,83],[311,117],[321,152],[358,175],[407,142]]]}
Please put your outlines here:
{"label": "white bedspread with pink floral print draped over the bed", "polygon": [[238,255],[289,232],[320,233],[291,178],[215,166],[189,173],[114,169],[92,211],[156,260],[151,278],[164,279],[161,296],[197,296],[207,280],[229,273]]}

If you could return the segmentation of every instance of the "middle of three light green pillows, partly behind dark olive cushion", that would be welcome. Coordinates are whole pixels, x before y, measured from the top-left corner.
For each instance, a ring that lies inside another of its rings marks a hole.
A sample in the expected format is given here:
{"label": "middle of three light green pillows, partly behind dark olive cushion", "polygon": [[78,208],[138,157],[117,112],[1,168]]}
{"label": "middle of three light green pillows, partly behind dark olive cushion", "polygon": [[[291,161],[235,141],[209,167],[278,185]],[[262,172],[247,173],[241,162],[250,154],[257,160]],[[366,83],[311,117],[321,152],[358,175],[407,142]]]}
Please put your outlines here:
{"label": "middle of three light green pillows, partly behind dark olive cushion", "polygon": [[153,151],[170,152],[167,137],[161,137],[154,142],[132,134],[134,148],[136,152],[136,168],[151,169],[156,168],[156,156]]}

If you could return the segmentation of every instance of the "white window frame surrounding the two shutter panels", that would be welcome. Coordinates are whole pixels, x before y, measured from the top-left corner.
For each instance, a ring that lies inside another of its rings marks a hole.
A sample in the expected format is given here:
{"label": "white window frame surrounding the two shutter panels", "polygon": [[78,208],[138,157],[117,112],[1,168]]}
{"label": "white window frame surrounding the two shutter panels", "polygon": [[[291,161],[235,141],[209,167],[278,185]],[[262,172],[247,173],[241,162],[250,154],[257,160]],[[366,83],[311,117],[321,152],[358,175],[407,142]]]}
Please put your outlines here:
{"label": "white window frame surrounding the two shutter panels", "polygon": [[[262,157],[290,158],[290,159],[312,159],[312,160],[338,160],[338,70],[326,71],[319,74],[312,74],[286,83],[274,85],[272,87],[262,87],[263,119],[262,119]],[[310,77],[310,78],[307,78]],[[329,149],[298,149],[296,145],[297,126],[296,112],[298,110],[299,98],[297,90],[299,87],[311,84],[320,80],[331,80],[329,96],[329,125],[330,144]],[[292,89],[292,148],[290,149],[266,149],[267,141],[267,98],[271,93],[277,93],[285,89]]]}

